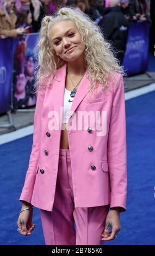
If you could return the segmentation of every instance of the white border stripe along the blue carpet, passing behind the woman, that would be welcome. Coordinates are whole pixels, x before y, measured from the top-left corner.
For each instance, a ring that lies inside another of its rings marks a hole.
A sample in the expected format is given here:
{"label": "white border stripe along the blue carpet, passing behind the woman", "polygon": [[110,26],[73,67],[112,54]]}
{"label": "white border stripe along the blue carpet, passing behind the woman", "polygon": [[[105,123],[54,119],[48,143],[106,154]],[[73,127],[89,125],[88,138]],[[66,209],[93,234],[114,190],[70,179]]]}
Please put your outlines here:
{"label": "white border stripe along the blue carpet, passing behind the woman", "polygon": [[[125,93],[125,100],[133,99],[140,95],[153,92],[155,90],[155,83],[150,84],[149,86],[141,87],[139,89],[131,90],[130,92]],[[15,141],[15,139],[20,139],[28,135],[33,134],[33,125],[27,126],[25,128],[19,129],[14,132],[5,133],[0,136],[0,145]]]}

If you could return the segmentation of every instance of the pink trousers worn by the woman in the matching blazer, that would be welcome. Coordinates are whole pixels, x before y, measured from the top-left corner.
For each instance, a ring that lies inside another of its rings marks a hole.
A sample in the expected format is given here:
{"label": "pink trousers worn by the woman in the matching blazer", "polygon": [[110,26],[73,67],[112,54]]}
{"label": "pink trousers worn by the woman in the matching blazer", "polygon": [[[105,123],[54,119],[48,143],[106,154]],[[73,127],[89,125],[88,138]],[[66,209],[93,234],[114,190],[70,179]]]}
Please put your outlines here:
{"label": "pink trousers worn by the woman in the matching blazer", "polygon": [[109,205],[75,208],[70,150],[60,149],[53,210],[40,210],[46,245],[103,245],[108,210]]}

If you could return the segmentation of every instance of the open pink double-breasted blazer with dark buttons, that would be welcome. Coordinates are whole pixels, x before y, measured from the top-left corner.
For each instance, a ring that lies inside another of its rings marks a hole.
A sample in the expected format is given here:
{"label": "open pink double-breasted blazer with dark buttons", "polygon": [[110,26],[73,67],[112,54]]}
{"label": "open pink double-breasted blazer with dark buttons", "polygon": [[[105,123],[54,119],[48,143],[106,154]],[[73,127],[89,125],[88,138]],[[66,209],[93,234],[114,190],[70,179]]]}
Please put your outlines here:
{"label": "open pink double-breasted blazer with dark buttons", "polygon": [[[72,103],[69,121],[73,125],[68,129],[68,138],[76,208],[110,204],[111,208],[126,209],[125,94],[122,76],[116,72],[114,75],[115,81],[109,80],[110,89],[104,93],[98,90],[88,102],[86,71]],[[45,92],[38,93],[32,153],[20,196],[20,200],[47,211],[53,209],[57,180],[65,78],[66,64],[57,70]],[[83,112],[92,117],[95,113],[93,121],[88,118],[83,124],[78,116]],[[75,117],[82,125],[80,129],[73,122]],[[101,131],[98,120],[104,128]]]}

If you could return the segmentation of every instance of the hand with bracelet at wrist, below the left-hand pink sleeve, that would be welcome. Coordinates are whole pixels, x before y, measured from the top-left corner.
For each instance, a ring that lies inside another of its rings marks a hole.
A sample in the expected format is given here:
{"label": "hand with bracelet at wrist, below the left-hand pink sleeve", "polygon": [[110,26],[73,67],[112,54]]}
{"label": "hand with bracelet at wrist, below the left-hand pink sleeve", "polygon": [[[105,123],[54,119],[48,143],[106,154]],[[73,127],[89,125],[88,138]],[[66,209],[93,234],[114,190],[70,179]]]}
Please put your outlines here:
{"label": "hand with bracelet at wrist, below the left-hand pink sleeve", "polygon": [[[22,205],[24,210],[28,208],[26,205]],[[32,224],[33,208],[29,207],[28,210],[24,210],[20,213],[17,221],[18,228],[21,229],[21,235],[30,235],[35,228],[35,224]]]}

